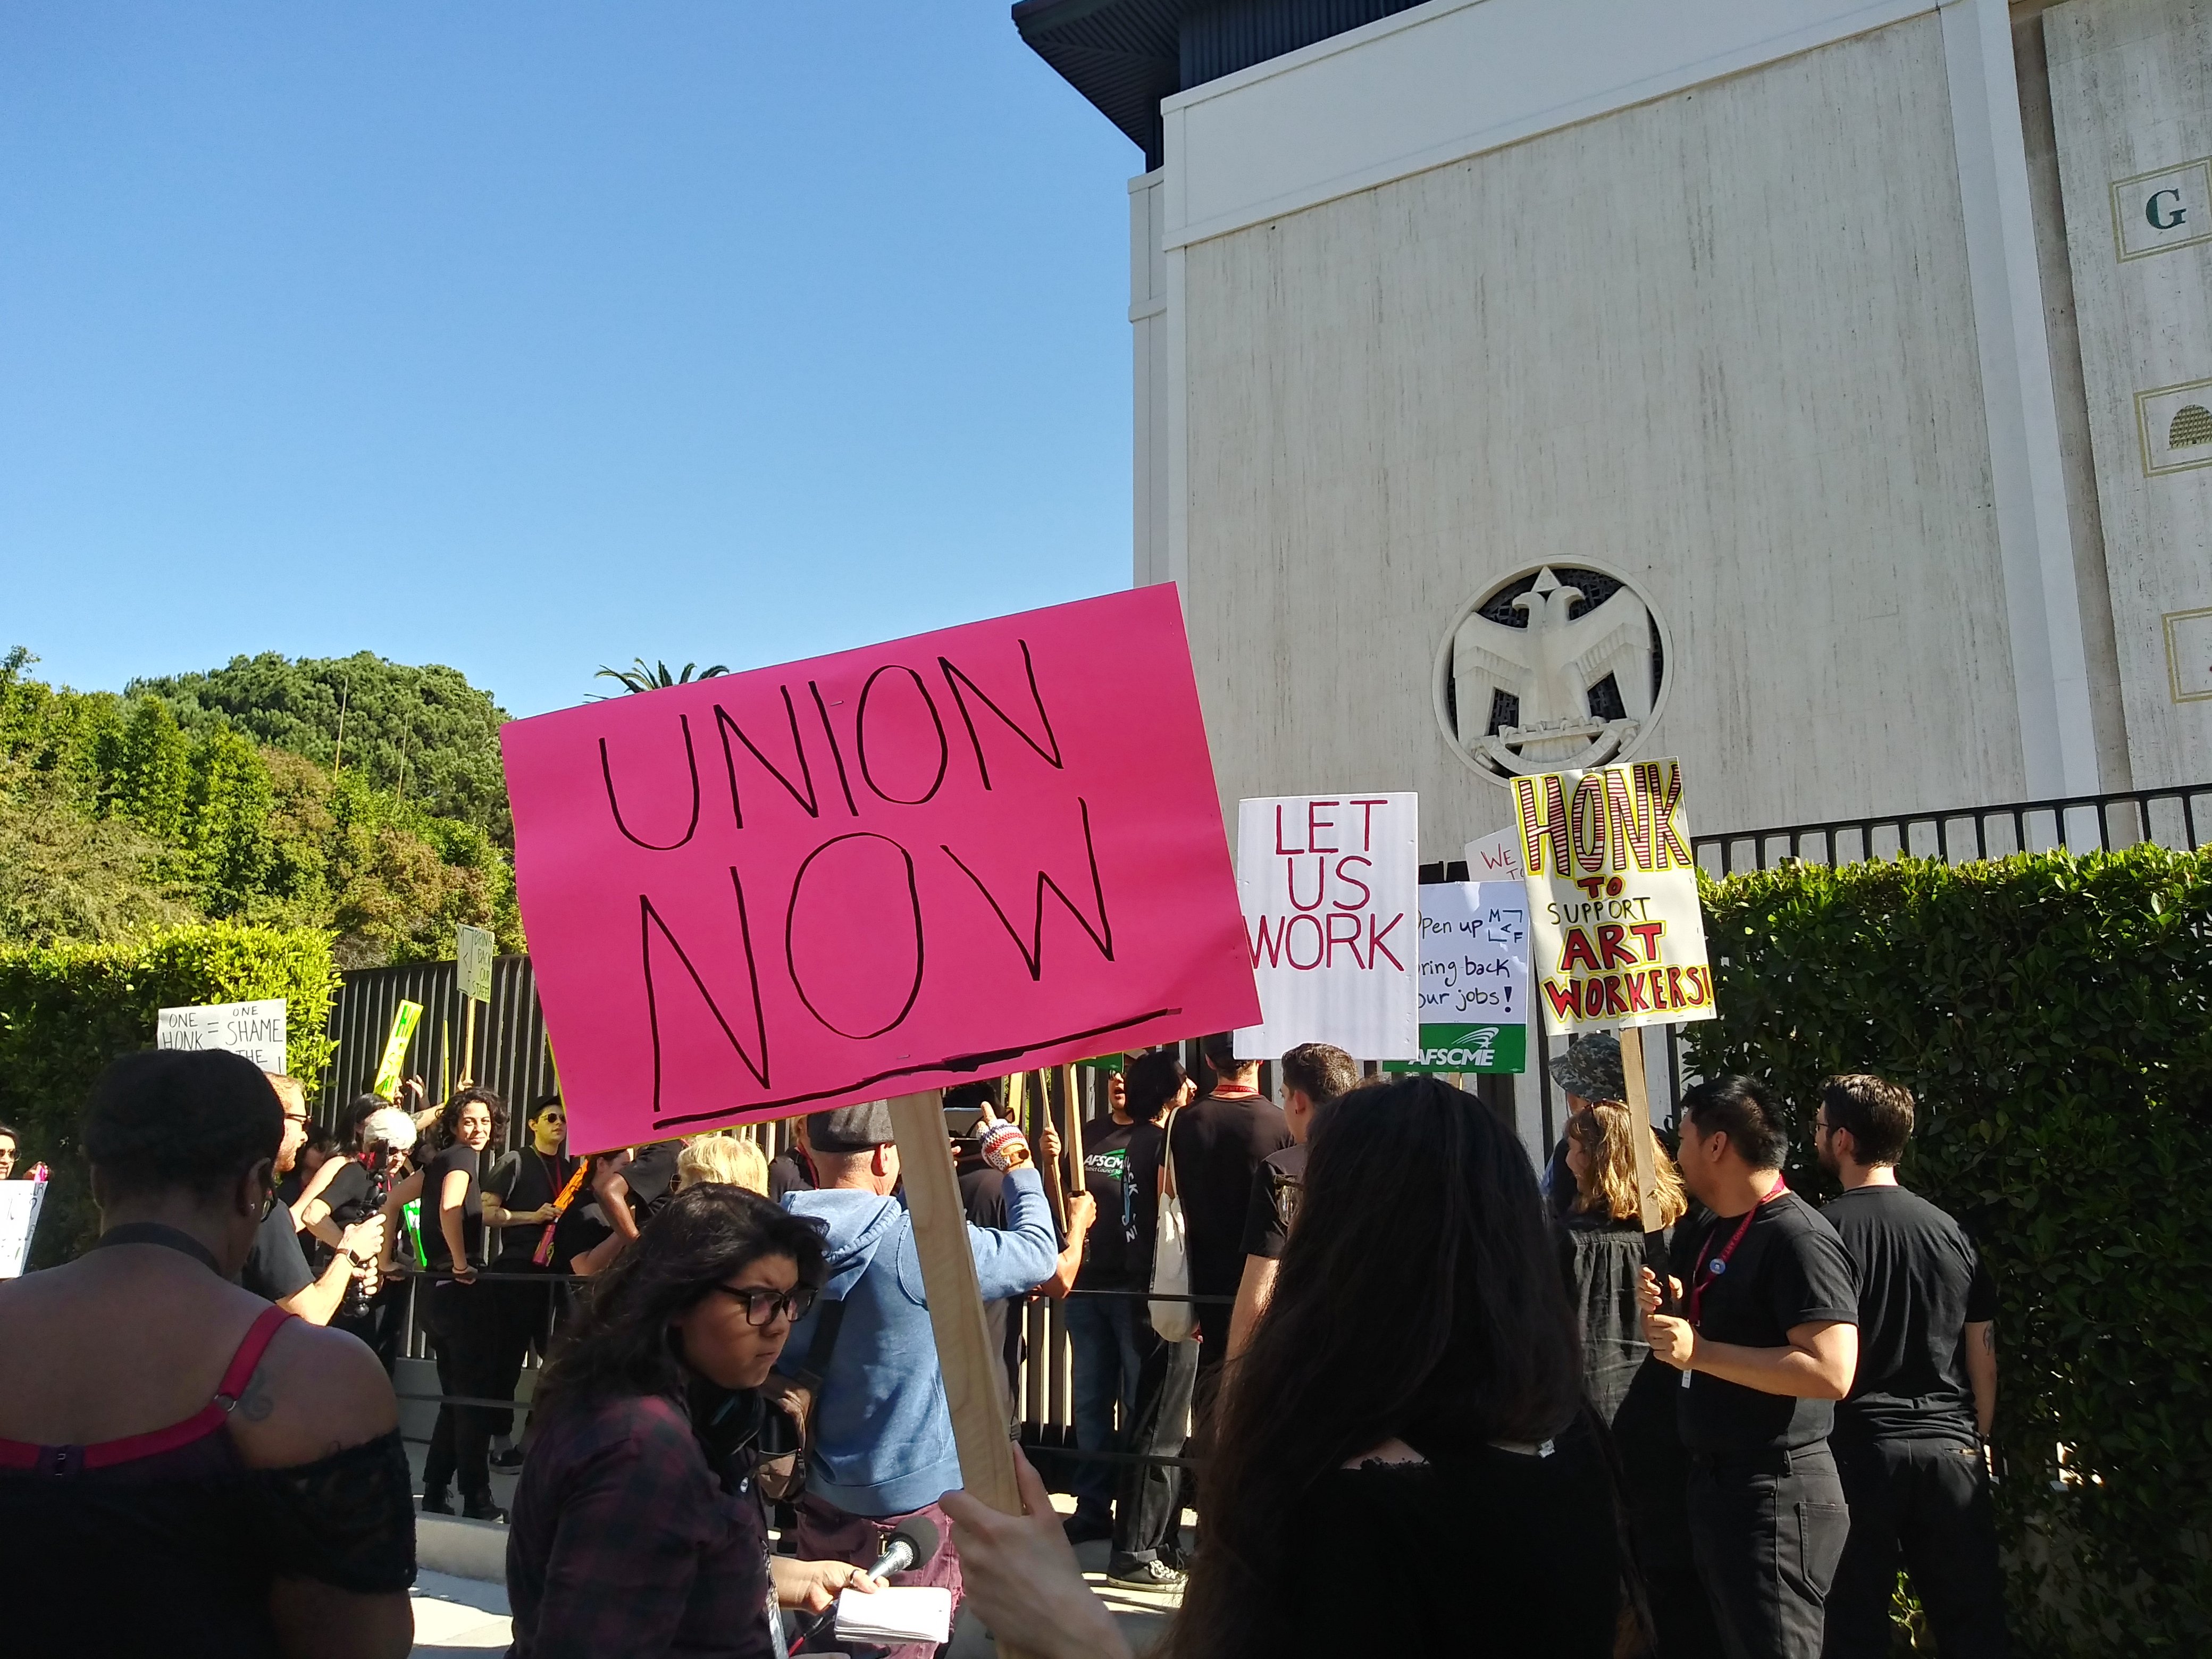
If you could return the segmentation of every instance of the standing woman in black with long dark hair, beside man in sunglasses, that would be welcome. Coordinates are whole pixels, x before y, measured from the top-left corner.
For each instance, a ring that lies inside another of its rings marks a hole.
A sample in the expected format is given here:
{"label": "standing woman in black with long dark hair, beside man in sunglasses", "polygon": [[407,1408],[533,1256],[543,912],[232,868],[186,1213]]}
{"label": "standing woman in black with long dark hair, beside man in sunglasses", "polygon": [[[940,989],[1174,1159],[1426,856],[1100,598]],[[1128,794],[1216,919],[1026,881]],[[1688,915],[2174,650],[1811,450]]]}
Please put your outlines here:
{"label": "standing woman in black with long dark hair, beside man in sunglasses", "polygon": [[[507,1133],[507,1102],[489,1088],[462,1088],[438,1113],[436,1157],[398,1181],[385,1199],[385,1241],[409,1199],[422,1199],[422,1256],[429,1296],[422,1323],[438,1352],[438,1394],[491,1398],[500,1378],[500,1327],[491,1285],[476,1283],[484,1245],[480,1159]],[[422,1458],[422,1513],[451,1515],[449,1484],[460,1484],[467,1520],[504,1520],[491,1502],[493,1411],[440,1405]]]}

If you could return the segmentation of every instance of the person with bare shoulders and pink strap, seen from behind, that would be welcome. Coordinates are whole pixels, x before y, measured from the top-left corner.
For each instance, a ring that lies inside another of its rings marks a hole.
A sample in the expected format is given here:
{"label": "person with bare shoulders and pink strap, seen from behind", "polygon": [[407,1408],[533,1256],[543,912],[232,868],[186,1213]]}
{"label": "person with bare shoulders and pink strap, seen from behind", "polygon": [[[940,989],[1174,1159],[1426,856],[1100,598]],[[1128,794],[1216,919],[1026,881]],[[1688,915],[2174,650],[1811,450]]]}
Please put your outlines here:
{"label": "person with bare shoulders and pink strap, seen from behind", "polygon": [[283,1133],[239,1055],[148,1051],[93,1084],[100,1241],[0,1285],[9,1652],[407,1652],[392,1385],[361,1343],[230,1283]]}

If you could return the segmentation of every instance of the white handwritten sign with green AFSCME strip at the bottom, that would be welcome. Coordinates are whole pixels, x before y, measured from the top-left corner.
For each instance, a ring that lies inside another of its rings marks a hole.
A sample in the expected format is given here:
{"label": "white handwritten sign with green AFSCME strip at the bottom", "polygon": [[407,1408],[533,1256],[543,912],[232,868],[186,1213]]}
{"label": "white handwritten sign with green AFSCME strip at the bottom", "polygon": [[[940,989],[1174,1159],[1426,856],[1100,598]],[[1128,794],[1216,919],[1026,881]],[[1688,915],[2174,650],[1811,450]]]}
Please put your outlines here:
{"label": "white handwritten sign with green AFSCME strip at the bottom", "polygon": [[1420,1057],[1385,1071],[1528,1071],[1528,889],[1420,887]]}

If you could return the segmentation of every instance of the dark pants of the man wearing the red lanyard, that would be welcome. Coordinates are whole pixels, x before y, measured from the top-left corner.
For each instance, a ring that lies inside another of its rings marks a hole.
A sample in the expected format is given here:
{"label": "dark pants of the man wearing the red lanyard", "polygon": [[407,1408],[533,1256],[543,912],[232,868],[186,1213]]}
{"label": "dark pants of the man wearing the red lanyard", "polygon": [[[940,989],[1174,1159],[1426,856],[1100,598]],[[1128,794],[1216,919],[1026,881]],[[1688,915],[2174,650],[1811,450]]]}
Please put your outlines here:
{"label": "dark pants of the man wearing the red lanyard", "polygon": [[1818,1659],[1849,1531],[1825,1440],[1690,1458],[1690,1544],[1728,1659]]}

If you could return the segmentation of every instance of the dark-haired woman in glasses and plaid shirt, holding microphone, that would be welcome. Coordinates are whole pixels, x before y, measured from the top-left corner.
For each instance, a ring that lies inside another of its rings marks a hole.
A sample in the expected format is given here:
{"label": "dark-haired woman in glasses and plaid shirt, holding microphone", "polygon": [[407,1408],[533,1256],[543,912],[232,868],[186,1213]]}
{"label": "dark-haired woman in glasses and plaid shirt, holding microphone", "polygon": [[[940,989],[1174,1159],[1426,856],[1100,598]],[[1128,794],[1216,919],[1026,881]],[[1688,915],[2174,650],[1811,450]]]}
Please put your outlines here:
{"label": "dark-haired woman in glasses and plaid shirt, holding microphone", "polygon": [[513,1659],[781,1655],[845,1562],[770,1557],[757,1389],[825,1279],[821,1228],[732,1186],[672,1197],[538,1383],[507,1544]]}

